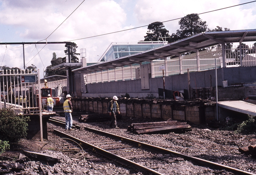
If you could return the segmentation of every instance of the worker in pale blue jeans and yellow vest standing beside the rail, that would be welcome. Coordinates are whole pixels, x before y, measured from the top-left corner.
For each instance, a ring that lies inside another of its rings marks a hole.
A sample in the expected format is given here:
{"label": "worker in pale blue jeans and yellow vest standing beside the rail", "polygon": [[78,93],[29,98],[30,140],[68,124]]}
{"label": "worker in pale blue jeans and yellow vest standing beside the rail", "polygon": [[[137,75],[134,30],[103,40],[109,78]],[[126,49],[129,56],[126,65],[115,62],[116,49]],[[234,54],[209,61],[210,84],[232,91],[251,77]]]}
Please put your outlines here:
{"label": "worker in pale blue jeans and yellow vest standing beside the rail", "polygon": [[70,101],[71,100],[71,96],[68,94],[66,96],[66,101],[64,101],[64,104],[63,104],[63,108],[64,108],[64,113],[65,113],[65,118],[66,118],[66,127],[65,129],[66,130],[74,130],[72,128],[72,125],[73,125],[73,119],[72,119],[72,111],[73,111],[73,108],[72,108],[72,102]]}

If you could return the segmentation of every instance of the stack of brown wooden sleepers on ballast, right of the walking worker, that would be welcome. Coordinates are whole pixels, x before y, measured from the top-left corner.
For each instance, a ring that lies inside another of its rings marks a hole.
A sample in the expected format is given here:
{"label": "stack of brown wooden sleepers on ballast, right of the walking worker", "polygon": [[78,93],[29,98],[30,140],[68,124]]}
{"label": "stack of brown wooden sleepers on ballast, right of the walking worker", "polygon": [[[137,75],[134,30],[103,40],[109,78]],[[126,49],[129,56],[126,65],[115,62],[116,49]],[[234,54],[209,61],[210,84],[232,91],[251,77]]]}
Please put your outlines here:
{"label": "stack of brown wooden sleepers on ballast, right of the walking worker", "polygon": [[164,134],[169,132],[184,133],[191,131],[191,126],[187,122],[178,122],[177,120],[132,123],[128,131],[134,134]]}

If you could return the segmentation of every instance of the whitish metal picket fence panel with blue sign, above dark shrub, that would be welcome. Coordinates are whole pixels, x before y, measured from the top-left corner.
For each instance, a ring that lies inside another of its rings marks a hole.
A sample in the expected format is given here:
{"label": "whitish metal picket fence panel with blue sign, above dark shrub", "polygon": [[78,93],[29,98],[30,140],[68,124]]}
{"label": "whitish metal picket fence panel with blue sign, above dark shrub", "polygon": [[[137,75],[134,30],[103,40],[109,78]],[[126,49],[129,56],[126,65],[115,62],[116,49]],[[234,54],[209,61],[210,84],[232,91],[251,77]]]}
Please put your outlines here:
{"label": "whitish metal picket fence panel with blue sign, above dark shrub", "polygon": [[1,70],[0,109],[11,108],[17,115],[40,113],[38,78],[40,78],[39,73],[32,69]]}

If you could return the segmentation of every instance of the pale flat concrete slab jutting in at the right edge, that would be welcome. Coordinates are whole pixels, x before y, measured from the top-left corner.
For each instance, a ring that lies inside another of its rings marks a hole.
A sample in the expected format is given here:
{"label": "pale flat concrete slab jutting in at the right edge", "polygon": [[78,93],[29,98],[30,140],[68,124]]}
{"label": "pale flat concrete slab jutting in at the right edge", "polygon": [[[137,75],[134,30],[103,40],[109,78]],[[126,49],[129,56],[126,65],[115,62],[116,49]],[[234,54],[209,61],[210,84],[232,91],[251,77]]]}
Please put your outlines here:
{"label": "pale flat concrete slab jutting in at the right edge", "polygon": [[220,101],[219,107],[256,116],[256,105],[245,101]]}

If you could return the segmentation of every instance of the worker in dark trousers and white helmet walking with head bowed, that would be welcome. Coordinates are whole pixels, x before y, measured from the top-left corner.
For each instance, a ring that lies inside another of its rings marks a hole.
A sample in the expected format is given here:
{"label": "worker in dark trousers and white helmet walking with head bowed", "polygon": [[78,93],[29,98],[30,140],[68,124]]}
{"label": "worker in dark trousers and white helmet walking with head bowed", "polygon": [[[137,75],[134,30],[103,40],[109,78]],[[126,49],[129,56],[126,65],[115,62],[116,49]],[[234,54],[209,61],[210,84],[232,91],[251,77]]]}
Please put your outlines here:
{"label": "worker in dark trousers and white helmet walking with head bowed", "polygon": [[113,97],[113,99],[109,102],[109,105],[108,105],[108,112],[109,112],[109,115],[111,116],[111,122],[110,122],[110,125],[109,127],[110,128],[113,128],[113,123],[114,123],[114,128],[116,129],[119,129],[117,127],[117,123],[116,123],[116,111],[118,112],[118,114],[120,114],[120,111],[119,111],[119,106],[117,104],[117,101],[118,98],[116,96]]}

